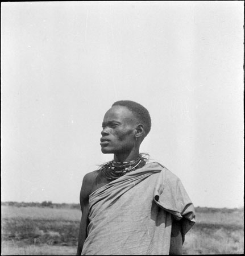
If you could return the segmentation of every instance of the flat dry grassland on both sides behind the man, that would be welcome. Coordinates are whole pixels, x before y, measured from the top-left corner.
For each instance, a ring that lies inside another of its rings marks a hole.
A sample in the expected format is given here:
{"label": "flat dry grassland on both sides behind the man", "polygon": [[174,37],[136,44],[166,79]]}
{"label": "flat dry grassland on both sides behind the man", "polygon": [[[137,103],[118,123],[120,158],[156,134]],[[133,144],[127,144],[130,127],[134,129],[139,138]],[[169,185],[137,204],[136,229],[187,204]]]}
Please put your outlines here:
{"label": "flat dry grassland on both sides behind the man", "polygon": [[[1,255],[76,255],[79,205],[2,203]],[[183,254],[243,254],[243,209],[196,208]]]}

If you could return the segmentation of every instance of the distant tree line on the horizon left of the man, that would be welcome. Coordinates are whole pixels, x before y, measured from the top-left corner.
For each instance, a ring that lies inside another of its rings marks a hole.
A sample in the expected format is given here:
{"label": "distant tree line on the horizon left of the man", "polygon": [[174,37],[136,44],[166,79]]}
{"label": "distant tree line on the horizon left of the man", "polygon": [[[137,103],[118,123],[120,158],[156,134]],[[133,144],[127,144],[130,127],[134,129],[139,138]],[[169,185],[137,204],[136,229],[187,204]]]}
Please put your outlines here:
{"label": "distant tree line on the horizon left of the man", "polygon": [[15,206],[15,207],[48,207],[48,208],[56,208],[56,209],[80,209],[80,204],[67,204],[67,203],[52,203],[52,201],[43,201],[41,203],[39,202],[15,202],[15,201],[9,201],[9,202],[1,202],[1,205],[9,205],[9,206]]}

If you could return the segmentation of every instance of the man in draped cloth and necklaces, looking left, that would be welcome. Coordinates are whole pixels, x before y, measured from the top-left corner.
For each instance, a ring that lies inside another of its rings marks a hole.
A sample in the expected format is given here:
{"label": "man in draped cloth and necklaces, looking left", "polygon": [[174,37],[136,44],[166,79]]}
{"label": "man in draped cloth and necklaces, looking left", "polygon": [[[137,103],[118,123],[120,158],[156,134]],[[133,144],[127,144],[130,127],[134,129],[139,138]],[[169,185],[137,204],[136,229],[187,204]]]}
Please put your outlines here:
{"label": "man in draped cloth and necklaces, looking left", "polygon": [[117,101],[102,123],[101,151],[114,159],[82,181],[77,255],[182,254],[194,207],[181,181],[139,153],[147,109]]}

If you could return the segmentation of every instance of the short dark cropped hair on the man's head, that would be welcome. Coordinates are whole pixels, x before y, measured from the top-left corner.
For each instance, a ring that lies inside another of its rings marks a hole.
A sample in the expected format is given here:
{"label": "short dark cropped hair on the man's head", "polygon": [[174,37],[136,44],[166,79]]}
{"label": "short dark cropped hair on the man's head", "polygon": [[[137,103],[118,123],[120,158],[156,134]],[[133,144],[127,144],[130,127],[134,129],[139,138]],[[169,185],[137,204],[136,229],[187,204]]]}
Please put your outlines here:
{"label": "short dark cropped hair on the man's head", "polygon": [[124,106],[136,115],[138,121],[144,126],[146,135],[151,130],[151,117],[146,108],[134,101],[116,101],[113,106]]}

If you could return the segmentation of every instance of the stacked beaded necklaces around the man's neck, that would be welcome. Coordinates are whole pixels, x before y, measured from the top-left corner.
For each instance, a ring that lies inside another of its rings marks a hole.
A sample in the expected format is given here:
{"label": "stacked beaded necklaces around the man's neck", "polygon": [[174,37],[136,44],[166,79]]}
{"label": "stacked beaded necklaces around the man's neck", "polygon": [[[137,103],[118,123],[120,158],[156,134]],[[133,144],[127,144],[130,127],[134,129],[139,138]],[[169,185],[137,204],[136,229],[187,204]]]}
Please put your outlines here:
{"label": "stacked beaded necklaces around the man's neck", "polygon": [[135,171],[138,168],[143,167],[146,164],[143,157],[140,155],[139,158],[130,162],[115,162],[114,160],[104,164],[101,171],[109,180],[115,180],[118,177],[127,174],[128,172]]}

